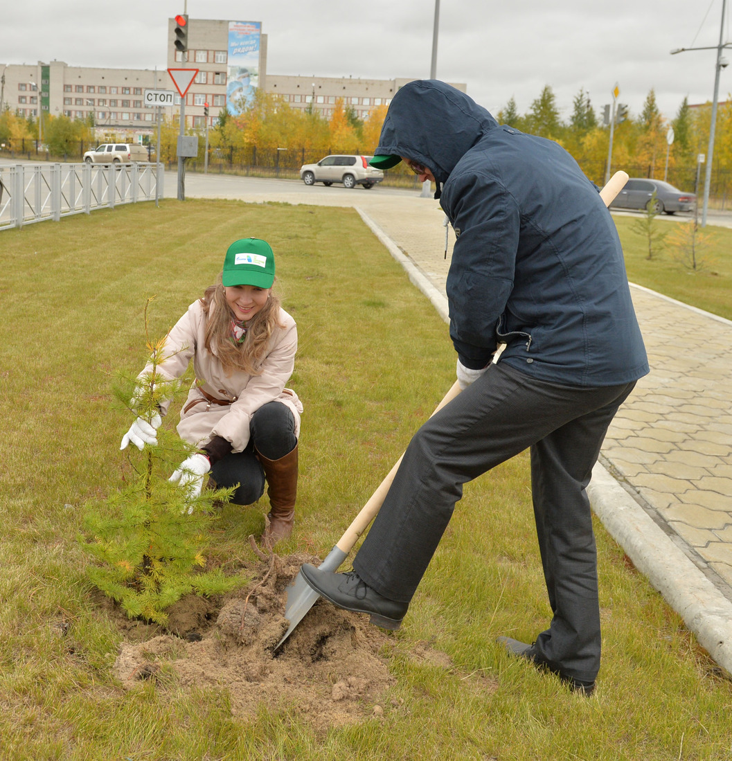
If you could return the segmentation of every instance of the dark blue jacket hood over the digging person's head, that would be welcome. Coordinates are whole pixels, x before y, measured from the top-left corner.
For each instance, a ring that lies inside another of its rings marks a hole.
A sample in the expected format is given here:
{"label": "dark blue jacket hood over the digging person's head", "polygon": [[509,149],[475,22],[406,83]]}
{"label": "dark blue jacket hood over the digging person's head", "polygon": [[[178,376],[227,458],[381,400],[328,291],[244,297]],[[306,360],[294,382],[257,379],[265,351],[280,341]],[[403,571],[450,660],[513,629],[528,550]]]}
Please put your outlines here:
{"label": "dark blue jacket hood over the digging person's head", "polygon": [[421,79],[393,97],[374,154],[411,158],[444,183],[463,155],[497,126],[465,93],[436,79]]}

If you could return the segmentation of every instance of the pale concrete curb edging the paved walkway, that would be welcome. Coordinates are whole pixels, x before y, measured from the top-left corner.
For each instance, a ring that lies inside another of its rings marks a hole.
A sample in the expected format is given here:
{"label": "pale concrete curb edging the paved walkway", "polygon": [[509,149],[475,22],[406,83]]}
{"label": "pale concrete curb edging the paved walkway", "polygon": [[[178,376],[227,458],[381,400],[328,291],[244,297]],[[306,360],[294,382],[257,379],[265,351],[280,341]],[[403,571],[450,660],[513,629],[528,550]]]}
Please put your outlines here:
{"label": "pale concrete curb edging the paved walkway", "polygon": [[[435,288],[419,266],[406,256],[366,212],[358,206],[355,209],[394,259],[404,267],[410,281],[427,296],[442,319],[449,322],[447,296]],[[634,287],[648,291],[648,288],[640,285],[634,284]],[[696,310],[696,307],[689,307],[688,304],[656,294],[655,291],[649,292]],[[706,312],[702,314],[728,322],[716,315]],[[664,600],[682,617],[711,658],[727,673],[732,674],[732,603],[714,587],[601,463],[594,467],[587,494],[594,513],[638,571],[648,578],[654,589],[660,592]]]}

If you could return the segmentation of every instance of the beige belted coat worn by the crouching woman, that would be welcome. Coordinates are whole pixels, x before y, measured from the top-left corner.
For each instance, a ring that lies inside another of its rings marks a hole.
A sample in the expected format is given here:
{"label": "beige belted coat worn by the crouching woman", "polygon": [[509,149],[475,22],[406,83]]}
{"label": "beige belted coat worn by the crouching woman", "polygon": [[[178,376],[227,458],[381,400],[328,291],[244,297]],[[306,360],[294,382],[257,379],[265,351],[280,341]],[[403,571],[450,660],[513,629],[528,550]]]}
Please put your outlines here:
{"label": "beige belted coat worn by the crouching woman", "polygon": [[[186,371],[189,361],[193,359],[198,383],[191,387],[180,413],[177,426],[180,438],[201,447],[213,436],[221,436],[231,441],[232,451],[243,451],[249,443],[253,413],[274,400],[291,410],[295,422],[294,434],[299,438],[302,403],[293,390],[285,388],[294,369],[294,355],[298,349],[298,329],[292,317],[285,310],[280,310],[278,321],[284,327],[275,328],[272,333],[261,375],[249,375],[240,370],[224,371],[221,361],[205,348],[206,318],[201,301],[191,304],[170,330],[165,344],[167,359],[158,365],[158,371],[173,380]],[[150,365],[143,374],[149,371]],[[216,399],[236,401],[228,406],[209,404],[199,387]],[[203,401],[189,406],[198,399]],[[170,403],[161,406],[163,414],[168,406]],[[188,412],[184,411],[186,408]]]}

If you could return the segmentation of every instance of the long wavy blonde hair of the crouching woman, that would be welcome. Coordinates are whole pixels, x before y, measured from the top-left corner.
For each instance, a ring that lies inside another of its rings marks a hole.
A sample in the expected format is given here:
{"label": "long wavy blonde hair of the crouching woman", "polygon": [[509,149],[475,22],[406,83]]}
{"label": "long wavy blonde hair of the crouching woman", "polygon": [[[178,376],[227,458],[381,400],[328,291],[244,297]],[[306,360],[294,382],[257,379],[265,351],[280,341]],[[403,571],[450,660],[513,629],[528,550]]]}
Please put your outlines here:
{"label": "long wavy blonde hair of the crouching woman", "polygon": [[269,291],[266,304],[247,325],[247,335],[240,344],[231,337],[231,320],[234,315],[226,301],[226,291],[218,275],[218,282],[209,285],[201,298],[204,310],[208,308],[205,347],[221,361],[224,370],[243,370],[250,375],[261,375],[261,365],[267,353],[269,339],[279,321],[280,300],[275,291]]}

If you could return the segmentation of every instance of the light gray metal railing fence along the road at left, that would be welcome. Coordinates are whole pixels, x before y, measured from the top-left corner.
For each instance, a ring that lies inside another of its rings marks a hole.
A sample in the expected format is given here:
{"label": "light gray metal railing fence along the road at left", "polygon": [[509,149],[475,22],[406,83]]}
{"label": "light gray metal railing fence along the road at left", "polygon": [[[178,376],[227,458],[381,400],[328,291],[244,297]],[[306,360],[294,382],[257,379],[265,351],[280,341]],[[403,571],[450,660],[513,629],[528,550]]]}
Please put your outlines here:
{"label": "light gray metal railing fence along the road at left", "polygon": [[0,231],[163,197],[163,164],[0,166]]}

